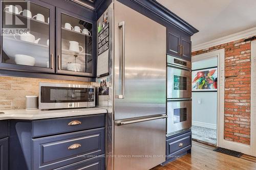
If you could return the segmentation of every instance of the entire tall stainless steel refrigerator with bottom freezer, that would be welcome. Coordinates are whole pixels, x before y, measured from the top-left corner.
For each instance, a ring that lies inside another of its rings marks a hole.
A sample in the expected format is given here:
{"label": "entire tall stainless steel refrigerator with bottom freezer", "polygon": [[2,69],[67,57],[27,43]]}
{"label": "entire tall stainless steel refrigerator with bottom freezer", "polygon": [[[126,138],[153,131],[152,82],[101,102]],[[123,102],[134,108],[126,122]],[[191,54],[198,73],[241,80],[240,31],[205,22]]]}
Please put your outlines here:
{"label": "entire tall stainless steel refrigerator with bottom freezer", "polygon": [[165,161],[166,28],[117,1],[97,27],[106,167],[150,169]]}

